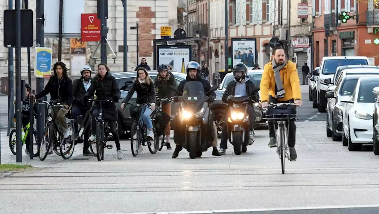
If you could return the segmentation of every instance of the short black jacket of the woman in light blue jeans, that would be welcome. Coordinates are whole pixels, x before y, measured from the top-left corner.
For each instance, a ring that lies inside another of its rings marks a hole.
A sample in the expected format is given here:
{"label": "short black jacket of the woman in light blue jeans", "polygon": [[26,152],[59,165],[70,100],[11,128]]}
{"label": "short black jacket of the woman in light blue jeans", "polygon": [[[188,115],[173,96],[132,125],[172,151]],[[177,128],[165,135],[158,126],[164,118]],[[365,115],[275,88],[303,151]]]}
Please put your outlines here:
{"label": "short black jacket of the woman in light blue jeans", "polygon": [[138,78],[136,78],[124,101],[122,102],[128,103],[134,92],[137,92],[137,104],[155,103],[155,87],[153,82],[150,84],[139,83]]}

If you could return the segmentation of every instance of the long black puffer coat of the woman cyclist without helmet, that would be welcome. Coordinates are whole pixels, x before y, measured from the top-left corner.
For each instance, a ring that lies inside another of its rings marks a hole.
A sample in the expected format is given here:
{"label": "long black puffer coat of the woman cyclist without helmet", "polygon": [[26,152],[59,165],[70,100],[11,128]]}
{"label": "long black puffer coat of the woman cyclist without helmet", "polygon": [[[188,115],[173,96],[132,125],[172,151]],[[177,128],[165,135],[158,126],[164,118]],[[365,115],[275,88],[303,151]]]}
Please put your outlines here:
{"label": "long black puffer coat of the woman cyclist without helmet", "polygon": [[[118,88],[116,79],[110,72],[106,72],[105,77],[101,78],[99,74],[92,80],[92,84],[86,92],[85,98],[93,97],[96,94],[96,99],[106,100],[112,99],[113,103],[103,104],[103,118],[109,121],[118,119],[116,103],[121,97],[120,89]],[[95,103],[92,109],[98,109],[99,105]]]}

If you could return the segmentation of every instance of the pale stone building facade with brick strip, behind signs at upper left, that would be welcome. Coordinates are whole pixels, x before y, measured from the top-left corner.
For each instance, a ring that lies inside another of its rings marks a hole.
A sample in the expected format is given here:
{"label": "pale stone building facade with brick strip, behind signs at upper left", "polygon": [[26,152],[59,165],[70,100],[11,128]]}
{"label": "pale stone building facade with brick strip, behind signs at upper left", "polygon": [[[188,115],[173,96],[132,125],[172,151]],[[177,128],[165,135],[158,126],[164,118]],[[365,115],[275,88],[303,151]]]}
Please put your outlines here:
{"label": "pale stone building facade with brick strip, behind signs at upper left", "polygon": [[[78,0],[81,1],[81,0]],[[46,2],[46,1],[45,1]],[[84,13],[96,13],[97,1],[84,0]],[[146,58],[147,63],[153,66],[153,39],[160,39],[160,27],[171,26],[177,28],[177,0],[129,0],[128,2],[128,70],[134,70],[141,58]],[[0,0],[0,8],[8,9],[8,0]],[[33,9],[34,17],[36,10],[36,0],[29,0],[29,8]],[[45,8],[46,9],[46,8]],[[48,18],[48,17],[47,17]],[[139,57],[137,59],[137,31],[130,30],[139,22]],[[80,22],[80,20],[78,20]],[[124,50],[124,7],[121,0],[108,1],[107,34],[110,47],[116,53],[113,60],[108,58],[108,65],[113,72],[123,71],[123,50]],[[2,25],[2,24],[1,24]],[[57,23],[58,25],[58,23]],[[1,26],[3,29],[3,27]],[[34,38],[35,38],[34,20]],[[0,31],[0,40],[3,40],[3,31]],[[62,61],[70,69],[70,42],[63,38]],[[98,42],[87,42],[87,60],[91,66],[96,66],[100,59],[91,59]],[[45,36],[45,47],[53,48],[53,63],[58,60],[58,38]],[[0,46],[0,74],[8,75],[8,49]],[[27,48],[22,48],[22,75],[27,75]],[[31,69],[34,69],[34,48],[31,48]]]}

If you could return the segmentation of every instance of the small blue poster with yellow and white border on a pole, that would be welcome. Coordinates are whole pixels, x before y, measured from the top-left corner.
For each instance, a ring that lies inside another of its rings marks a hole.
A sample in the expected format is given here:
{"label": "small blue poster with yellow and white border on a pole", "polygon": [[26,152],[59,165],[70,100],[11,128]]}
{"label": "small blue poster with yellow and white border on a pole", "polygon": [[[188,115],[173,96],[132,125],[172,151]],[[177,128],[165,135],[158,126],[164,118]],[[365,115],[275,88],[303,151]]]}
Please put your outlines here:
{"label": "small blue poster with yellow and white border on a pole", "polygon": [[34,77],[49,78],[52,69],[52,48],[36,47]]}

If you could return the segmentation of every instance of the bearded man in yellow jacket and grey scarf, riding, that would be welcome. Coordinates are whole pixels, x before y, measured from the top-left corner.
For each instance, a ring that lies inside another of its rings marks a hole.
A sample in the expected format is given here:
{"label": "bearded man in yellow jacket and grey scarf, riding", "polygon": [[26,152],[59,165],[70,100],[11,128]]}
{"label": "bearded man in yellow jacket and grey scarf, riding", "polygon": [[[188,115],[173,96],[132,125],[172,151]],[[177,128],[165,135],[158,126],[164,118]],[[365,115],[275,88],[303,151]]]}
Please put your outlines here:
{"label": "bearded man in yellow jacket and grey scarf, riding", "polygon": [[[260,82],[260,95],[263,107],[268,106],[268,102],[302,105],[300,81],[296,64],[286,58],[282,47],[273,49],[272,60],[265,65]],[[269,122],[268,128],[270,135],[268,146],[276,147],[277,141],[274,122]],[[295,150],[295,141],[296,125],[294,121],[290,121],[288,147],[291,161],[296,161],[298,157]]]}

